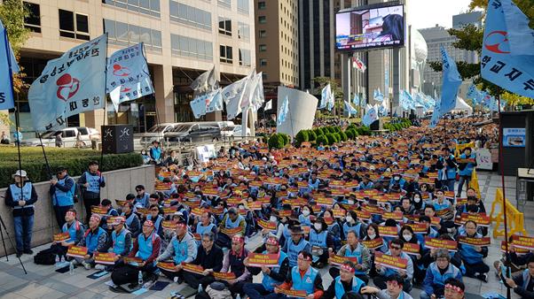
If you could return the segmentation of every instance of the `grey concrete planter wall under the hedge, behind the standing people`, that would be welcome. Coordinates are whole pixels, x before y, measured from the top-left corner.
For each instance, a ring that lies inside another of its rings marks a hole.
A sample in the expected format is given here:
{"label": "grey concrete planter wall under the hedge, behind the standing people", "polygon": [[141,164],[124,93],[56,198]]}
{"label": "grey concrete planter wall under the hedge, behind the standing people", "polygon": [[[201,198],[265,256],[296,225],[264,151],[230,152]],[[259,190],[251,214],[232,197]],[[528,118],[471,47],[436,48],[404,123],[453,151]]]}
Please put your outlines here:
{"label": "grey concrete planter wall under the hedge, behind the standing people", "polygon": [[[129,193],[135,194],[137,185],[144,185],[146,192],[152,193],[154,189],[155,167],[153,165],[143,165],[134,168],[114,170],[103,173],[106,180],[106,188],[102,188],[101,198],[108,198],[114,204],[115,199],[124,199]],[[78,180],[78,177],[75,177]],[[34,230],[32,235],[32,247],[43,245],[52,241],[52,235],[59,232],[56,217],[51,206],[51,196],[49,195],[50,183],[48,181],[33,184],[39,199],[35,203]],[[7,188],[0,188],[0,196],[5,195]],[[15,244],[15,233],[13,231],[12,209],[2,203],[0,216],[4,219],[5,226]],[[85,209],[81,201],[75,203],[78,211],[78,219],[84,219]],[[11,242],[7,240],[4,231],[5,247],[8,254],[15,252]],[[4,256],[4,247],[0,244],[0,256]]]}

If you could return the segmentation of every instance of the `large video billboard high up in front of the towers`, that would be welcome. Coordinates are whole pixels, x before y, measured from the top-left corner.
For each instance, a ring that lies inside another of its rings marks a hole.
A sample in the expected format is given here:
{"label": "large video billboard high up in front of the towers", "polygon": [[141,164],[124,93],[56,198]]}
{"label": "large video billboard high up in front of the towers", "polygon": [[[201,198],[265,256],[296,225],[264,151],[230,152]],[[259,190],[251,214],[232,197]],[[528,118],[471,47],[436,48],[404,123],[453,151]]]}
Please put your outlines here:
{"label": "large video billboard high up in front of the towers", "polygon": [[342,51],[404,46],[404,6],[382,6],[339,12],[335,48]]}

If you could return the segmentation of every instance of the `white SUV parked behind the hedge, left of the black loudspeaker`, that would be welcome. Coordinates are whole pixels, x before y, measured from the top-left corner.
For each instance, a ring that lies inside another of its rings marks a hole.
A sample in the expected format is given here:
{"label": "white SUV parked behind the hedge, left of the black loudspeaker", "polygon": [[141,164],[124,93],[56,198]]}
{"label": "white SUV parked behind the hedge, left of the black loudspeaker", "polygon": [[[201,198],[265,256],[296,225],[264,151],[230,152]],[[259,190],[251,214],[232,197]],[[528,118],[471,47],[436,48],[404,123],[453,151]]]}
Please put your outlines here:
{"label": "white SUV parked behind the hedge, left of the black loudspeaker", "polygon": [[[80,142],[77,143],[77,135],[80,133]],[[56,136],[61,134],[63,141],[63,148],[87,148],[91,146],[92,141],[100,141],[101,135],[97,129],[93,127],[86,126],[75,126],[75,127],[66,127],[58,131],[48,131],[41,135],[43,140],[43,146],[55,147],[56,146]],[[23,139],[20,142],[20,145],[23,146],[41,146],[41,141],[39,138],[28,138]]]}

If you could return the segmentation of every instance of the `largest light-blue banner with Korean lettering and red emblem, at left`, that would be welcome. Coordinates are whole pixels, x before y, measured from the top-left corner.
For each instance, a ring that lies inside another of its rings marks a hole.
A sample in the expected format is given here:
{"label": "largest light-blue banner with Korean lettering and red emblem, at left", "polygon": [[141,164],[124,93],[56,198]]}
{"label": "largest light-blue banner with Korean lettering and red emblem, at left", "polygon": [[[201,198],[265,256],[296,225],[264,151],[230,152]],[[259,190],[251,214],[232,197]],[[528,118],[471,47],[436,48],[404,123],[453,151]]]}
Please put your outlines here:
{"label": "largest light-blue banner with Korean lettering and red emblem, at left", "polygon": [[50,60],[27,99],[37,132],[65,125],[69,116],[104,108],[107,34]]}

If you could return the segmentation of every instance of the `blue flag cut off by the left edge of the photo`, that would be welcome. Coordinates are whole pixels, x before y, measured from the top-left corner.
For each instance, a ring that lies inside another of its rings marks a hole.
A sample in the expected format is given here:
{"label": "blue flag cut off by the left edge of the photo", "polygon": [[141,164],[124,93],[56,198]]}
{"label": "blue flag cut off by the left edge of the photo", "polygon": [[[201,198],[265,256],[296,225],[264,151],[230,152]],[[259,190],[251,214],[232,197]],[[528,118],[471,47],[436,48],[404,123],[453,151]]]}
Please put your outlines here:
{"label": "blue flag cut off by the left edge of the photo", "polygon": [[19,65],[12,46],[7,39],[7,30],[0,20],[0,110],[8,110],[15,107],[13,101],[13,73],[19,73]]}

